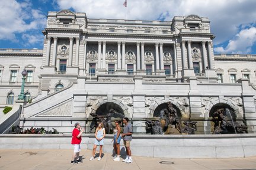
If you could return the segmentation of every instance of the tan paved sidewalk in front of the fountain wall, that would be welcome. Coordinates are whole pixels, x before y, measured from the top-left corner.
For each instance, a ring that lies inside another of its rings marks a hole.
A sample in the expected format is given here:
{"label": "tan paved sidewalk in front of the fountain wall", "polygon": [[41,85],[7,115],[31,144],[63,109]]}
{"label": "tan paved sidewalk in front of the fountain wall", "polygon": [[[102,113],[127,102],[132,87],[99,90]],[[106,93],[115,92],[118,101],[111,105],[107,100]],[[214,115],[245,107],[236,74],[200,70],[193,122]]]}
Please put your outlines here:
{"label": "tan paved sidewalk in front of the fountain wall", "polygon": [[71,164],[71,156],[72,149],[1,149],[0,169],[256,169],[256,157],[232,159],[171,159],[133,156],[133,163],[126,164],[122,161],[113,161],[113,157],[110,153],[105,153],[101,161],[97,159],[89,161],[89,158],[91,158],[91,150],[82,150],[80,156],[82,156],[84,162],[81,164]]}

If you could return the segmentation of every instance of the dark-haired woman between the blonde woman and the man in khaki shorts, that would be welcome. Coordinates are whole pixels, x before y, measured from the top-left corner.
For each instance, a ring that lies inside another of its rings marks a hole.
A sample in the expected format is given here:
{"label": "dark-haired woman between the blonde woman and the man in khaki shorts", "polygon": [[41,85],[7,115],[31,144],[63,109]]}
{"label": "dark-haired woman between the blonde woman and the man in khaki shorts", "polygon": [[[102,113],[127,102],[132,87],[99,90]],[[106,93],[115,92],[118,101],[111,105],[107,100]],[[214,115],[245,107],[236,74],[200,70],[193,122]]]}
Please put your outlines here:
{"label": "dark-haired woman between the blonde woman and the man in khaki shorts", "polygon": [[114,129],[114,151],[116,155],[114,156],[114,161],[120,161],[120,141],[121,141],[121,136],[120,136],[120,120],[116,120],[116,128]]}

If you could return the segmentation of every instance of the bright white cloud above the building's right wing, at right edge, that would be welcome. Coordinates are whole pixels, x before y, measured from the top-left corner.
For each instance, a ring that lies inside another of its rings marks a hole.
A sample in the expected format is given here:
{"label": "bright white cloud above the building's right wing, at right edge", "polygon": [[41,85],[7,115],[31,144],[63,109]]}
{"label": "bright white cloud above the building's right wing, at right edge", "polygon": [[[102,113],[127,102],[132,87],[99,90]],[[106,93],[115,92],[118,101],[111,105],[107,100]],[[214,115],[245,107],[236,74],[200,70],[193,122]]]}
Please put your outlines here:
{"label": "bright white cloud above the building's right wing, at right edge", "polygon": [[241,30],[232,40],[229,40],[226,48],[216,47],[216,53],[247,54],[251,53],[251,47],[256,43],[256,27]]}

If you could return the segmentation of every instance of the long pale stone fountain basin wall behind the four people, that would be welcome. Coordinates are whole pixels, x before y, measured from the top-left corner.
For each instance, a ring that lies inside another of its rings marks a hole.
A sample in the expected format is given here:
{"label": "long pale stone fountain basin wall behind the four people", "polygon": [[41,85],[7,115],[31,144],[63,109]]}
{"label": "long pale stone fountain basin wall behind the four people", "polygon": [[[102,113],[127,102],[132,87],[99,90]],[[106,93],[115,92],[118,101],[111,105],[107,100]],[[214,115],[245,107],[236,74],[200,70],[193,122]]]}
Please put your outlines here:
{"label": "long pale stone fountain basin wall behind the four people", "polygon": [[[113,153],[113,135],[105,136],[103,151]],[[92,149],[94,134],[84,134],[82,149]],[[72,149],[71,134],[0,135],[0,149]],[[125,154],[123,142],[121,154]],[[242,158],[256,156],[256,134],[133,135],[133,156],[155,158]]]}

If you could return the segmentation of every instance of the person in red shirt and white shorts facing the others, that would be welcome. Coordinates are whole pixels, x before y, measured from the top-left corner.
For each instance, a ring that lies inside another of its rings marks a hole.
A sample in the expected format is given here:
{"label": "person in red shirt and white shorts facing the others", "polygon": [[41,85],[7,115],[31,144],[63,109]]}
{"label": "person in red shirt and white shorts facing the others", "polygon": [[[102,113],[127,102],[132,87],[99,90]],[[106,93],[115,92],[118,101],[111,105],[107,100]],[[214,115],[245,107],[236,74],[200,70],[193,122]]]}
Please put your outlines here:
{"label": "person in red shirt and white shorts facing the others", "polygon": [[81,128],[79,123],[75,123],[75,128],[72,132],[72,140],[71,144],[74,146],[73,155],[72,155],[72,164],[78,164],[82,162],[82,160],[79,159],[79,152],[81,151],[80,143],[82,141],[82,132],[84,132],[84,128]]}

